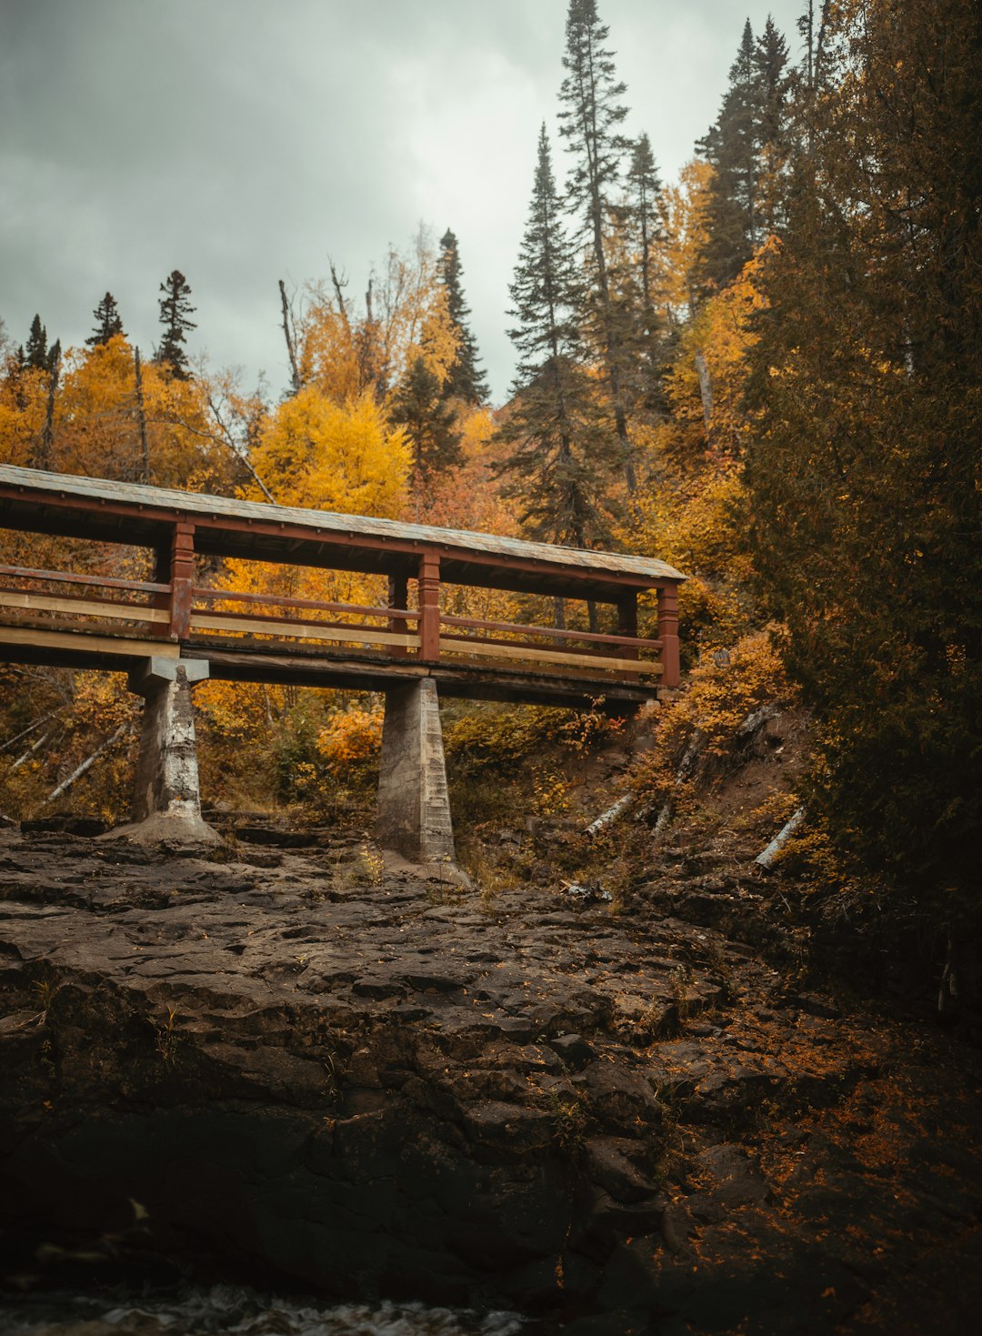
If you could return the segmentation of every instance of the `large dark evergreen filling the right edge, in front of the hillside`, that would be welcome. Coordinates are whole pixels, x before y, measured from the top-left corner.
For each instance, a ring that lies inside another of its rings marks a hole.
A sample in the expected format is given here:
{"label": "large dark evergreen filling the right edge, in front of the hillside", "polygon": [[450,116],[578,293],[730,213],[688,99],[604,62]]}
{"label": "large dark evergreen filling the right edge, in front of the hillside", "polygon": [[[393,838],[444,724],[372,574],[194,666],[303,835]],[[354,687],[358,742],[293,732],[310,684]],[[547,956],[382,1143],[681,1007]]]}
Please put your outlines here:
{"label": "large dark evergreen filling the right edge, in front of the hillside", "polygon": [[830,8],[822,48],[751,351],[755,565],[820,724],[812,810],[958,933],[982,838],[982,21],[868,0]]}

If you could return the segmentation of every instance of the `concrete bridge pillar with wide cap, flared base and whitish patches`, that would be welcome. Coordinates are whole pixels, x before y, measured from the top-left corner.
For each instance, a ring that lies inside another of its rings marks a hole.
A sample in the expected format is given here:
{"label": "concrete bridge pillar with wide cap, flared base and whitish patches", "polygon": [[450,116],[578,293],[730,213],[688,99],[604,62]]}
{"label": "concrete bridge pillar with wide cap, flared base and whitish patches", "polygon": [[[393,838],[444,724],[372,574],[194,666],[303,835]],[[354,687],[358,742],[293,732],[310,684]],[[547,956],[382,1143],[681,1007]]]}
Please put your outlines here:
{"label": "concrete bridge pillar with wide cap, flared base and whitish patches", "polygon": [[146,842],[206,840],[220,836],[202,820],[191,687],[208,676],[203,660],[148,659],[130,675],[130,691],[143,696],[132,826],[119,834]]}

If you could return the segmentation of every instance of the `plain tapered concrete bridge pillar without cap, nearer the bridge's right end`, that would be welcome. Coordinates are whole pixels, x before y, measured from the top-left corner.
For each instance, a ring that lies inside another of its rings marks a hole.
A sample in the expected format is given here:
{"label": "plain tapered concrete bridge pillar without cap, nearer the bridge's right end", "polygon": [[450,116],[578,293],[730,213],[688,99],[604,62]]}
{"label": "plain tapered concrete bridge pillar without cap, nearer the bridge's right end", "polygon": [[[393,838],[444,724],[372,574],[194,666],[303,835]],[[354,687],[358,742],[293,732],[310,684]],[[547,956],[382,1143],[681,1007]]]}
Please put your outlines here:
{"label": "plain tapered concrete bridge pillar without cap, nearer the bridge's right end", "polygon": [[436,683],[385,693],[375,839],[410,863],[453,863],[444,733]]}

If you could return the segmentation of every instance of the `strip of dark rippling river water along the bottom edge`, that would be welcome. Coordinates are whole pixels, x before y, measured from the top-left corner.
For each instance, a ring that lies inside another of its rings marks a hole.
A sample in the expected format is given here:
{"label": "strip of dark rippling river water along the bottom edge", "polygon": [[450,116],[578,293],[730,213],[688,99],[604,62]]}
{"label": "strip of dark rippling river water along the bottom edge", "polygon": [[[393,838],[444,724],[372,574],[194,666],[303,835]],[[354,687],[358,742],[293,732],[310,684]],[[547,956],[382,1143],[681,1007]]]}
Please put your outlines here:
{"label": "strip of dark rippling river water along the bottom edge", "polygon": [[3,1336],[524,1336],[517,1313],[422,1304],[327,1304],[240,1285],[184,1285],[166,1293],[32,1295],[0,1299]]}

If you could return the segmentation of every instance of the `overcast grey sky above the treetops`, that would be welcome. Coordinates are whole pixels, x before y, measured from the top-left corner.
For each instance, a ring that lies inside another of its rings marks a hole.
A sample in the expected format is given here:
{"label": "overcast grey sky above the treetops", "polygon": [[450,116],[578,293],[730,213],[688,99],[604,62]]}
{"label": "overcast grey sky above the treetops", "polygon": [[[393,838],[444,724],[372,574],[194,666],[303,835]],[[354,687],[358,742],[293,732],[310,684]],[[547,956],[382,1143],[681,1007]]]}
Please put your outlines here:
{"label": "overcast grey sky above the treetops", "polygon": [[[600,0],[663,178],[715,120],[744,19],[803,0]],[[190,351],[286,383],[277,281],[362,293],[422,222],[460,242],[496,401],[566,0],[0,0],[0,318],[80,343],[107,290],[144,351],[180,269]],[[565,171],[556,147],[557,172]]]}

